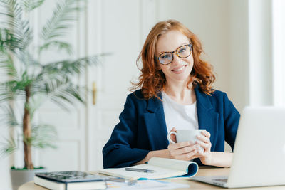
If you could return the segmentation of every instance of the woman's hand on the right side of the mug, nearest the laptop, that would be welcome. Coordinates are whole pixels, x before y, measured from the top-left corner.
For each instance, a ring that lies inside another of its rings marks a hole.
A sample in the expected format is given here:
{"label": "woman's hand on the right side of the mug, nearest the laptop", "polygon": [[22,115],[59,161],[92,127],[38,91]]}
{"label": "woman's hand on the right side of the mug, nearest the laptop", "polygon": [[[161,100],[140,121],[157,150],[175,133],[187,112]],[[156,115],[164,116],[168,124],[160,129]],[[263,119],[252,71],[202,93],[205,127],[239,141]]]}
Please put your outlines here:
{"label": "woman's hand on the right side of the mug, nearest the laptop", "polygon": [[198,135],[197,139],[199,141],[195,142],[195,144],[199,144],[202,148],[204,148],[204,152],[199,152],[197,155],[199,156],[199,159],[201,160],[202,164],[204,165],[211,165],[212,163],[212,154],[211,154],[211,147],[212,144],[209,140],[209,137],[211,137],[211,134],[207,132],[206,130],[203,130],[201,132],[202,135]]}

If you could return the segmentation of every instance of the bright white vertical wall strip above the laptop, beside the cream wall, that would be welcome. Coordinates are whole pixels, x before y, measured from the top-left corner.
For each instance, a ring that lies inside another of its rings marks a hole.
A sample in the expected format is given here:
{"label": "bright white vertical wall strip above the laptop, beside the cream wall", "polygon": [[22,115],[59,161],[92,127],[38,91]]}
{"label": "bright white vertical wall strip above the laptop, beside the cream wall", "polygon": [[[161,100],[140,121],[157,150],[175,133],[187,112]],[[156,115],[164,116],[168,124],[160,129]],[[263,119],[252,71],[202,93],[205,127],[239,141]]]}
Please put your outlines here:
{"label": "bright white vertical wall strip above the laptop, beside the cream wall", "polygon": [[249,105],[273,104],[271,0],[249,0]]}

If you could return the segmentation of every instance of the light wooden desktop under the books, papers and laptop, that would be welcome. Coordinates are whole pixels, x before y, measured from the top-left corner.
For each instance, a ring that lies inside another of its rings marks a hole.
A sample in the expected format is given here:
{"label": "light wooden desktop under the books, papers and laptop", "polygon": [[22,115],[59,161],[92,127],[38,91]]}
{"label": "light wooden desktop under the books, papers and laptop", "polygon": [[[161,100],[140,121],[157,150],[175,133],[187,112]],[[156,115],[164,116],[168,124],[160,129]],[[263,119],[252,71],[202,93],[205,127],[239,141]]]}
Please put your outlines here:
{"label": "light wooden desktop under the books, papers and laptop", "polygon": [[[91,173],[96,173],[96,171],[93,171]],[[229,168],[202,168],[199,169],[196,176],[217,176],[217,175],[228,175],[229,174]],[[189,184],[190,188],[187,189],[224,189],[222,187],[218,186],[212,186],[209,184],[203,184],[197,181],[192,181],[191,179],[183,179],[183,178],[174,178],[174,179],[164,179],[165,181],[171,181],[175,183],[181,183],[181,184]],[[285,189],[285,186],[263,186],[263,187],[253,187],[253,188],[239,188],[239,189],[248,189],[248,190],[254,190],[254,189]],[[46,190],[46,188],[43,188],[41,186],[37,186],[33,183],[33,181],[30,181],[26,184],[23,184],[19,187],[19,190]]]}

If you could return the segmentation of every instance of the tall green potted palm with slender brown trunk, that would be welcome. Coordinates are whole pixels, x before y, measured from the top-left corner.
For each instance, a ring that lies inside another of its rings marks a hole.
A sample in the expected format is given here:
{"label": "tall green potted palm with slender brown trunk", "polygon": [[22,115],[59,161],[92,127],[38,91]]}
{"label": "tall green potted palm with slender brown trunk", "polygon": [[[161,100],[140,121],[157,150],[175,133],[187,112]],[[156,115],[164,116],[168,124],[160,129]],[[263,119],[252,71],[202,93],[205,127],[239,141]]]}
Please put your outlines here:
{"label": "tall green potted palm with slender brown trunk", "polygon": [[[86,66],[98,63],[98,56],[52,63],[40,61],[41,54],[47,50],[72,53],[71,44],[61,39],[76,20],[76,13],[82,9],[78,7],[79,0],[59,1],[51,19],[42,28],[41,44],[37,45],[33,44],[34,33],[25,16],[28,17],[43,1],[0,0],[0,75],[6,76],[6,80],[0,80],[1,125],[21,127],[19,135],[11,135],[1,146],[1,154],[11,154],[19,147],[15,137],[20,137],[24,144],[24,169],[12,168],[11,172],[34,172],[31,147],[55,147],[56,131],[51,125],[33,120],[36,110],[46,100],[56,102],[66,110],[68,104],[84,102],[85,88],[76,85],[73,78],[86,70]],[[18,110],[21,112],[16,113]],[[15,184],[13,176],[11,178],[16,189],[19,184]],[[25,182],[17,180],[20,184]]]}

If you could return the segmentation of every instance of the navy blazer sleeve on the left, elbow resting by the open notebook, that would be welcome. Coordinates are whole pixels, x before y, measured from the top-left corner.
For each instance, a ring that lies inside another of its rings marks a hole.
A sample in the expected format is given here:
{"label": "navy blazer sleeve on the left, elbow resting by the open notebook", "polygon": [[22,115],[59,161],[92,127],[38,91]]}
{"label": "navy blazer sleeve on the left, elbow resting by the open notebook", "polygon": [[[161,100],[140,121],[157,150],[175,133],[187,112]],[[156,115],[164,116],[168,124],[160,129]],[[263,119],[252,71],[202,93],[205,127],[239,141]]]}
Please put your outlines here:
{"label": "navy blazer sleeve on the left, elbow resting by the open notebook", "polygon": [[134,97],[128,95],[121,112],[120,122],[115,126],[110,139],[103,147],[103,167],[129,167],[144,159],[149,150],[133,148],[138,132],[138,113]]}

